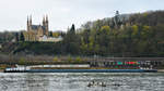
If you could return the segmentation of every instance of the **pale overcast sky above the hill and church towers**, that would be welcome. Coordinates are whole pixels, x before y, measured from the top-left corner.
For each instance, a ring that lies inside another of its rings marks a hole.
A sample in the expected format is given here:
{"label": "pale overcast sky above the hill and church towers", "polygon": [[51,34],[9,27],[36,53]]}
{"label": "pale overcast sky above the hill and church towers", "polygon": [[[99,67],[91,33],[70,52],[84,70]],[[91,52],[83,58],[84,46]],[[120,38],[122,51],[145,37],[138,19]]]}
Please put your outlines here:
{"label": "pale overcast sky above the hill and church towers", "polygon": [[42,24],[48,15],[52,31],[79,28],[89,21],[120,14],[164,10],[164,0],[0,0],[0,31],[24,30],[28,15],[33,24]]}

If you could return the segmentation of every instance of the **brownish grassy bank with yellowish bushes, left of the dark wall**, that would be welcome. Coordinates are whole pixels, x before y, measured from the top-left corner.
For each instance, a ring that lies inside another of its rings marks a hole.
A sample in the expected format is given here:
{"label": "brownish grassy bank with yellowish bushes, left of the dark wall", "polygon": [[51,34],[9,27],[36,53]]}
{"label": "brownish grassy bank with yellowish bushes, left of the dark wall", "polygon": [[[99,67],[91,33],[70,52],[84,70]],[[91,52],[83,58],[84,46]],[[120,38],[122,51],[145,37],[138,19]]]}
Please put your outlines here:
{"label": "brownish grassy bank with yellowish bushes, left of the dark wall", "polygon": [[89,57],[81,57],[81,56],[0,54],[0,64],[5,64],[5,65],[86,64],[89,60],[90,60]]}

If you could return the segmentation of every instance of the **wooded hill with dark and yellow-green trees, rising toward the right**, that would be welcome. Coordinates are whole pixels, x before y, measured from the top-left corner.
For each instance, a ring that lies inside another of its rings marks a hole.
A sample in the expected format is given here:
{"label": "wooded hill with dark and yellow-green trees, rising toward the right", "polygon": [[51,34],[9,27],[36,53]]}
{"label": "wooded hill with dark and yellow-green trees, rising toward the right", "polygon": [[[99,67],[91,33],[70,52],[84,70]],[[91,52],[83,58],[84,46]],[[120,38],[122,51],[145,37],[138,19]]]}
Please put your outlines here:
{"label": "wooded hill with dark and yellow-green trees, rising toward the right", "polygon": [[[5,50],[3,50],[5,51]],[[74,25],[63,41],[16,42],[13,54],[84,55],[84,56],[164,56],[164,11],[153,11]]]}

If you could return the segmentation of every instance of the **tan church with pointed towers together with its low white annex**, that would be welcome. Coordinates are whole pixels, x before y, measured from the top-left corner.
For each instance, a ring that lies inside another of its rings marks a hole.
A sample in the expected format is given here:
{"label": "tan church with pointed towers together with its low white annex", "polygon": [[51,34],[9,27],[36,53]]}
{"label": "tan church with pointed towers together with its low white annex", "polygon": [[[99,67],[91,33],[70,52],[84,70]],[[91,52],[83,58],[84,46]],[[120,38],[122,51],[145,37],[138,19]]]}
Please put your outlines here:
{"label": "tan church with pointed towers together with its low white annex", "polygon": [[49,27],[48,27],[48,16],[43,18],[42,25],[33,25],[32,16],[27,17],[27,31],[24,32],[25,41],[50,41],[57,42],[61,41],[62,38],[49,37]]}

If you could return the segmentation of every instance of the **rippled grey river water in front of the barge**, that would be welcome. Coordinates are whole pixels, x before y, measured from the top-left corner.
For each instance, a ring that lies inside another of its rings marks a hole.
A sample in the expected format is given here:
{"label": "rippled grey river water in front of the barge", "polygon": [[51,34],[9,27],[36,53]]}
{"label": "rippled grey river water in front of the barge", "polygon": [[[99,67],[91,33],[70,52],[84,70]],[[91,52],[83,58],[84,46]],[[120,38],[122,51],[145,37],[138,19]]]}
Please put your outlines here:
{"label": "rippled grey river water in front of the barge", "polygon": [[0,91],[164,91],[164,73],[0,73]]}

